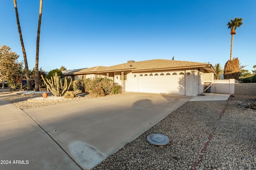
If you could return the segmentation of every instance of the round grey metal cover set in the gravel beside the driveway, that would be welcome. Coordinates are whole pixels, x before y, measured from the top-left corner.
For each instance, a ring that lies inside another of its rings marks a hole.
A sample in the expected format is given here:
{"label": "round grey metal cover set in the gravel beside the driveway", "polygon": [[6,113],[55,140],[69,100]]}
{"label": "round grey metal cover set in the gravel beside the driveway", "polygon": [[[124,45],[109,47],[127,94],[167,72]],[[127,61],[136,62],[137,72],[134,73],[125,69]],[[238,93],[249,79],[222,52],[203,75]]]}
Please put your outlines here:
{"label": "round grey metal cover set in the gravel beside the driveway", "polygon": [[170,139],[165,135],[154,133],[154,134],[148,135],[147,141],[152,145],[164,146],[170,142]]}

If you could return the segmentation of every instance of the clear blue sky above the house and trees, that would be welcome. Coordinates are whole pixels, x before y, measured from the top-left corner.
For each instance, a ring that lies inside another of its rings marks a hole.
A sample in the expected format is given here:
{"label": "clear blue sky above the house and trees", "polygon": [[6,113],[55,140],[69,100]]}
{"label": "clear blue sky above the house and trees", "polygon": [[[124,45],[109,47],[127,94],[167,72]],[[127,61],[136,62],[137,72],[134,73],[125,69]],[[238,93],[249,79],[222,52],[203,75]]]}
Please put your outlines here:
{"label": "clear blue sky above the house and trees", "polygon": [[[17,0],[29,69],[35,65],[40,0]],[[44,0],[39,67],[50,71],[172,59],[224,65],[233,57],[256,65],[255,0]],[[23,61],[12,0],[0,1],[0,45]]]}

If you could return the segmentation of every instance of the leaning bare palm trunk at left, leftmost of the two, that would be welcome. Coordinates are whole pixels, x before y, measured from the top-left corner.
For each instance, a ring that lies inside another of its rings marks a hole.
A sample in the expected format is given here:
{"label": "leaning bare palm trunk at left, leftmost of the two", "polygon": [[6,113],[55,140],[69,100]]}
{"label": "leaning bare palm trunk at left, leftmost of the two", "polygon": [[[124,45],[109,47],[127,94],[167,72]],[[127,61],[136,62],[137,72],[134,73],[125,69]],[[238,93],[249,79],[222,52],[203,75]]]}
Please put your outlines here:
{"label": "leaning bare palm trunk at left, leftmost of the two", "polygon": [[28,69],[28,60],[27,60],[26,51],[25,51],[25,47],[24,47],[24,43],[23,43],[23,39],[22,39],[22,33],[21,33],[21,29],[20,29],[20,20],[19,20],[16,0],[13,0],[13,3],[14,3],[15,13],[16,13],[16,20],[17,20],[18,30],[19,30],[19,34],[20,34],[20,43],[21,43],[22,53],[23,53],[23,57],[24,57],[24,64],[25,64],[25,69],[26,69],[27,90],[33,90],[32,85],[31,85],[31,80],[30,80],[29,69]]}

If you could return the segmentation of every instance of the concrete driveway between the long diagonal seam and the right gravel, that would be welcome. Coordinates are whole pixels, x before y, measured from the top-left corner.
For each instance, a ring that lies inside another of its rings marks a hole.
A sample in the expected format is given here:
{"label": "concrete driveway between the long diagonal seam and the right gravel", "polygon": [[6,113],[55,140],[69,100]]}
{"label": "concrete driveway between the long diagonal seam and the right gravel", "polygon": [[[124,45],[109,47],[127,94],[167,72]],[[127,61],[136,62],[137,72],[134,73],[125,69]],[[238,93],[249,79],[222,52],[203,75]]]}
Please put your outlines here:
{"label": "concrete driveway between the long diagonal seam and the right gravel", "polygon": [[[58,153],[68,161],[74,160],[77,168],[91,169],[192,98],[126,92],[92,100],[26,109],[24,112],[42,127],[33,125],[34,128],[39,128],[34,130],[36,133],[42,133],[40,129],[46,131],[39,136],[41,139],[38,139],[38,135],[35,136],[35,141],[39,140],[40,143],[45,140],[47,148],[50,148],[49,152]],[[24,121],[34,123],[31,119]],[[26,134],[22,135],[24,140],[21,143],[25,145]],[[42,144],[39,147],[43,150],[46,146]],[[31,150],[31,153],[35,151]],[[52,163],[46,159],[41,163],[56,169],[53,164],[65,162],[54,161]],[[68,166],[74,165],[68,162]]]}

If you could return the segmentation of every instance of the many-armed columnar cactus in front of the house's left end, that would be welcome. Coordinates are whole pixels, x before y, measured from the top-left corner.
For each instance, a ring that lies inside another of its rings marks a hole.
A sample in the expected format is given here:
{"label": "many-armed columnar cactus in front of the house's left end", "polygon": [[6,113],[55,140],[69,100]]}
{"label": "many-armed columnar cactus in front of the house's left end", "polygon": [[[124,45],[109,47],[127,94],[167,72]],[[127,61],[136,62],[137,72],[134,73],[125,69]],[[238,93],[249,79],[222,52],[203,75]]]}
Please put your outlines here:
{"label": "many-armed columnar cactus in front of the house's left end", "polygon": [[[42,79],[44,80],[43,76]],[[57,76],[57,73],[55,73],[55,76],[52,76],[50,80],[46,78],[46,81],[44,80],[44,83],[46,84],[46,87],[52,92],[52,94],[54,94],[54,96],[60,97],[63,96],[66,91],[68,91],[72,84],[72,79],[68,85],[68,80],[65,77],[64,84],[62,84],[60,76]]]}

